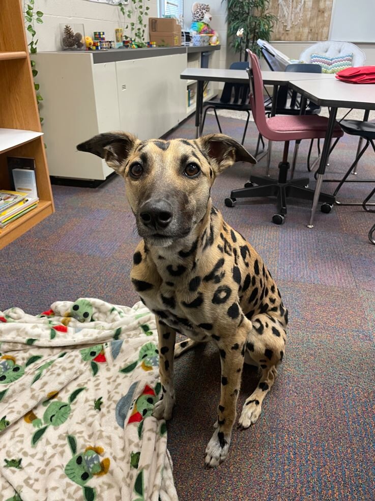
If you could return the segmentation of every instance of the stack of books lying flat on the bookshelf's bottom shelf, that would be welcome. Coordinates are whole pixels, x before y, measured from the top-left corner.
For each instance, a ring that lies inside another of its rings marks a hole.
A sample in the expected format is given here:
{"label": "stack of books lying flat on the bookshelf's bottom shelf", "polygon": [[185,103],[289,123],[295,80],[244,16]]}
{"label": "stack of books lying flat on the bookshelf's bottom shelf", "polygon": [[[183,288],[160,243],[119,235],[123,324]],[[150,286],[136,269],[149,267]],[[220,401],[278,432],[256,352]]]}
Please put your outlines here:
{"label": "stack of books lying flat on the bookshelf's bottom shelf", "polygon": [[38,197],[30,198],[28,193],[0,189],[0,231],[38,205]]}

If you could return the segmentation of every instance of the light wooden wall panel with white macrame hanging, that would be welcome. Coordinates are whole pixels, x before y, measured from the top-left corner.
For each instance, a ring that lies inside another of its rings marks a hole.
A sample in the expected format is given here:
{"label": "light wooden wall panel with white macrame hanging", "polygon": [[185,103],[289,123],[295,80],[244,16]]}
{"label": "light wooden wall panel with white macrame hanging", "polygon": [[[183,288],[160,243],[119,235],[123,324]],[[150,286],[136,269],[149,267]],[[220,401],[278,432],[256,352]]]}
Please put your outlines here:
{"label": "light wooden wall panel with white macrame hanging", "polygon": [[[271,0],[270,12],[279,17],[271,41],[328,40],[332,4],[333,0]],[[280,10],[285,21],[281,20]]]}

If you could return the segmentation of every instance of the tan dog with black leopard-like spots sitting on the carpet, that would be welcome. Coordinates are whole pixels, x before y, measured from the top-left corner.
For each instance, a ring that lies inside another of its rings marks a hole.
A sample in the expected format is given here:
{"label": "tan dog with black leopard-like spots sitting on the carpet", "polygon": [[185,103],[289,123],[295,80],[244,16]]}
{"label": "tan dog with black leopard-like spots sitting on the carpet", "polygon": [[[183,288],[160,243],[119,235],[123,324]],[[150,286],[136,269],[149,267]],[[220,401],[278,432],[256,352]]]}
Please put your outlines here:
{"label": "tan dog with black leopard-like spots sitting on the carpet", "polygon": [[261,414],[285,353],[288,311],[271,273],[245,238],[212,205],[211,186],[237,161],[256,163],[233,138],[209,134],[196,140],[140,141],[126,132],[99,134],[77,146],[104,158],[125,179],[126,194],[143,240],[133,255],[131,281],[155,313],[162,397],[153,415],[169,420],[175,405],[176,332],[216,344],[221,395],[206,467],[228,455],[244,361],[261,378],[243,406],[238,426]]}

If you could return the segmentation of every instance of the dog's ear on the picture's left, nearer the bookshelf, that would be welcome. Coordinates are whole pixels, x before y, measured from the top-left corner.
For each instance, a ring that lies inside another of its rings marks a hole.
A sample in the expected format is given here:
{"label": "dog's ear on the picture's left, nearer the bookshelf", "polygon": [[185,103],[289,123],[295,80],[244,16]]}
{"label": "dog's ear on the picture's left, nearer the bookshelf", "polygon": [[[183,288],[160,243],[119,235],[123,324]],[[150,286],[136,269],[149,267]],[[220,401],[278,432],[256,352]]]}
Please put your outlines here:
{"label": "dog's ear on the picture's left, nearer the bookshelf", "polygon": [[104,158],[106,163],[121,174],[124,160],[140,143],[135,135],[128,132],[105,132],[77,145],[77,150],[87,151]]}

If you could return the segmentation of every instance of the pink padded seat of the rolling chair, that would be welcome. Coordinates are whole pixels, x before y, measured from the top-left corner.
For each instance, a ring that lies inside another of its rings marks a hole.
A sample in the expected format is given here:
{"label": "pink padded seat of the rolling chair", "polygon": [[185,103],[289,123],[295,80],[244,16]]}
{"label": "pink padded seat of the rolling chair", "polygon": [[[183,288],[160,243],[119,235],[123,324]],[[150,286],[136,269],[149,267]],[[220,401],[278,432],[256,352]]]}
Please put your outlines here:
{"label": "pink padded seat of the rolling chair", "polygon": [[[271,141],[293,141],[300,139],[323,138],[326,135],[328,118],[316,115],[279,115],[267,119],[268,127],[274,132]],[[333,137],[341,137],[343,132],[335,124]]]}

